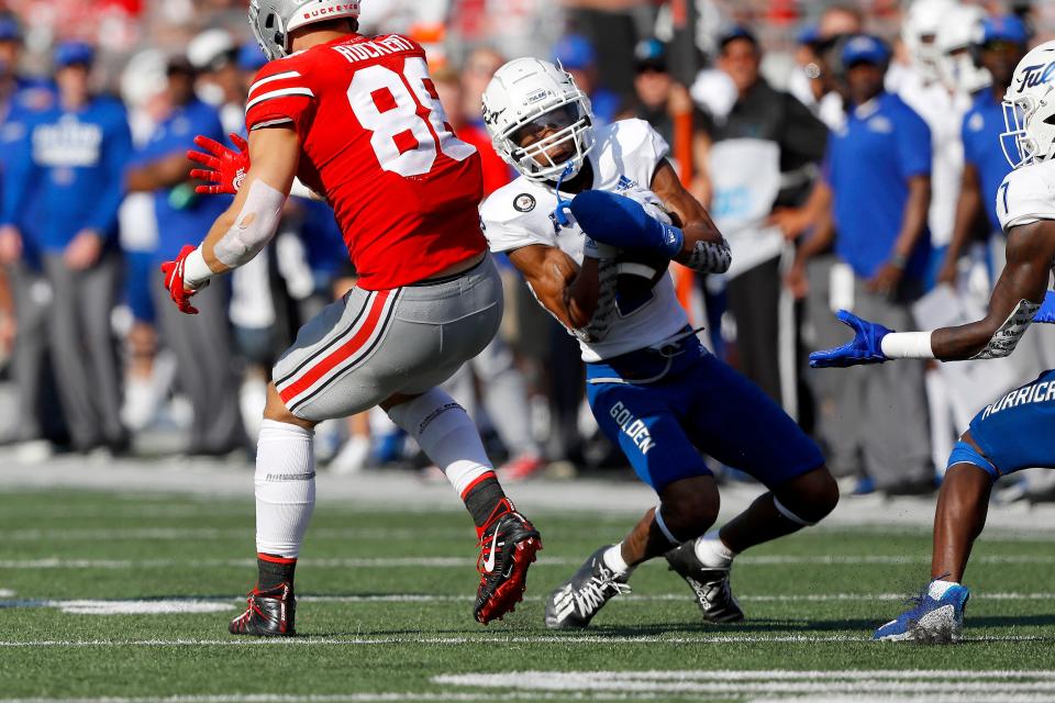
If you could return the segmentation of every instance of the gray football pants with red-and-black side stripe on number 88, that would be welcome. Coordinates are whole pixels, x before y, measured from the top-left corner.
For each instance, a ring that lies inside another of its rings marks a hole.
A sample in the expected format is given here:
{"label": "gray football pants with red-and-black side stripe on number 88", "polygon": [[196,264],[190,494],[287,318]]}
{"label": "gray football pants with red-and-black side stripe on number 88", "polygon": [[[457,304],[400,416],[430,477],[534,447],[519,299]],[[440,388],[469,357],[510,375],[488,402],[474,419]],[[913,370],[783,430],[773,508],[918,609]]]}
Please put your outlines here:
{"label": "gray football pants with red-and-black side stripe on number 88", "polygon": [[353,288],[300,328],[275,365],[275,387],[303,420],[353,415],[440,386],[484,350],[501,321],[502,281],[490,256],[443,280]]}

